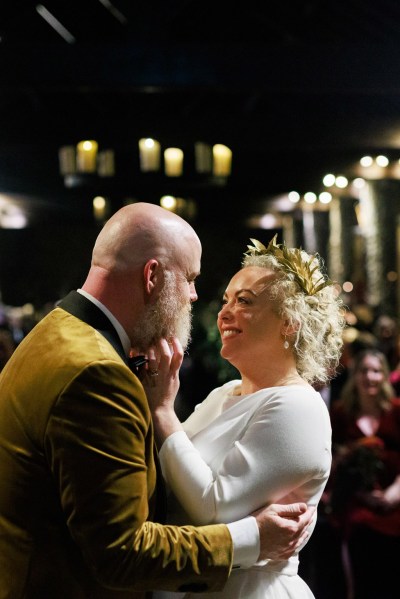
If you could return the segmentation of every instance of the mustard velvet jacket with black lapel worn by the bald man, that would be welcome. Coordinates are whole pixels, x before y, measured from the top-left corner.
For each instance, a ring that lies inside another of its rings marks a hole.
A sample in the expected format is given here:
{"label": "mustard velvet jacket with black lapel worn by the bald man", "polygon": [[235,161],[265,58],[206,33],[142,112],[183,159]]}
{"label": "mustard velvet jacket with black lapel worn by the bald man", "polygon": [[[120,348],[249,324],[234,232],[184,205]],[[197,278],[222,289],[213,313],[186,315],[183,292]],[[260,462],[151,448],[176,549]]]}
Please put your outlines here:
{"label": "mustard velvet jacket with black lapel worn by the bald man", "polygon": [[72,292],[0,375],[0,598],[220,590],[229,531],[154,523],[156,460],[145,393],[118,336]]}

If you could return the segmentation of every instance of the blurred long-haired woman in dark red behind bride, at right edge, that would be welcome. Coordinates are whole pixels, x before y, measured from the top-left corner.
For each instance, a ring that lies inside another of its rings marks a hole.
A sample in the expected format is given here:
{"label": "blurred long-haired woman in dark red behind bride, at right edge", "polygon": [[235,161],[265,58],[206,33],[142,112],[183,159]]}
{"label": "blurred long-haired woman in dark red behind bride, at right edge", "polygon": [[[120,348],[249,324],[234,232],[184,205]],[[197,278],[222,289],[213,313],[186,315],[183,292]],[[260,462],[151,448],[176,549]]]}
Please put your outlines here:
{"label": "blurred long-haired woman in dark red behind bride, at right edge", "polygon": [[328,484],[340,531],[350,599],[399,596],[400,400],[385,355],[353,358],[331,409],[333,468]]}

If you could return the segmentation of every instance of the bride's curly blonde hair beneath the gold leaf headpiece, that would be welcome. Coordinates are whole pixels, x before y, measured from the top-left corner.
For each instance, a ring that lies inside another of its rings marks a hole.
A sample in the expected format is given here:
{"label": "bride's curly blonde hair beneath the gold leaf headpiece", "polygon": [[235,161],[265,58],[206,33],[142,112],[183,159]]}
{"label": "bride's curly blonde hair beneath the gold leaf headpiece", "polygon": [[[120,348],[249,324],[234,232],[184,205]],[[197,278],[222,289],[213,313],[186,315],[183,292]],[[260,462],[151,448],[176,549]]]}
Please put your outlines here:
{"label": "bride's curly blonde hair beneath the gold leaf headpiece", "polygon": [[[304,250],[295,251],[304,263],[312,265],[312,280],[326,280],[323,262],[318,254],[312,256]],[[275,312],[295,331],[288,336],[300,376],[309,383],[325,383],[335,373],[343,346],[344,305],[337,290],[328,284],[308,295],[282,263],[271,254],[246,255],[242,268],[259,266],[269,268],[276,277],[269,284],[269,298]],[[315,267],[315,269],[314,269]]]}

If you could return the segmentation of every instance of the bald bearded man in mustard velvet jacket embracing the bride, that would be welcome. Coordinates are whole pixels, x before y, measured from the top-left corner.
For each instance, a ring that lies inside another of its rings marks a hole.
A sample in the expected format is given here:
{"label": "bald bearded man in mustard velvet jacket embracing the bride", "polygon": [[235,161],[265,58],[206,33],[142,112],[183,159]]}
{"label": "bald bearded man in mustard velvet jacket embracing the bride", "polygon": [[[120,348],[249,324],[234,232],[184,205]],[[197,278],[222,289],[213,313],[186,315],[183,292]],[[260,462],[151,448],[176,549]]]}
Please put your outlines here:
{"label": "bald bearded man in mustard velvet jacket embracing the bride", "polygon": [[[304,504],[229,525],[161,524],[164,488],[143,386],[128,356],[186,346],[201,243],[151,204],[100,232],[82,288],[25,337],[0,375],[0,598],[216,591],[232,567],[287,557]],[[146,376],[152,376],[148,372]]]}

